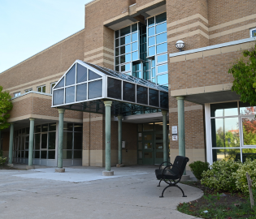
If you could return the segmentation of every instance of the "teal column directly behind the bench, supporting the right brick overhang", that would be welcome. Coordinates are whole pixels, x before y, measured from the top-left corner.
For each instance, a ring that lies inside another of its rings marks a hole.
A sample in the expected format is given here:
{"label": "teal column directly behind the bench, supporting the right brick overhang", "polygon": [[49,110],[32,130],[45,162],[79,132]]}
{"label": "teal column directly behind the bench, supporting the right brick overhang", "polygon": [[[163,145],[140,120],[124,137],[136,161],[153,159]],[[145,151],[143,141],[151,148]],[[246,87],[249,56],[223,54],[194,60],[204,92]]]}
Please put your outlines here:
{"label": "teal column directly behind the bench, supporting the right brick overhang", "polygon": [[[185,135],[184,135],[184,97],[176,97],[178,104],[178,140],[179,155],[185,156]],[[186,170],[184,170],[184,175]]]}

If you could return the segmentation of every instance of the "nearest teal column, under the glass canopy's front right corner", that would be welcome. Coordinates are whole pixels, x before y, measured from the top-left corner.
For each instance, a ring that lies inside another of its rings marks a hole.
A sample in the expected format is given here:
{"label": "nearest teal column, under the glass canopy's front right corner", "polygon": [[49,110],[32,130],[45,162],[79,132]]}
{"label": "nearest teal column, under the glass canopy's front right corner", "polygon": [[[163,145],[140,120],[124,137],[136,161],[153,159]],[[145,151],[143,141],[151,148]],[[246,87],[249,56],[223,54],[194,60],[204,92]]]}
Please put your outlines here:
{"label": "nearest teal column, under the glass canopy's front right corner", "polygon": [[112,101],[104,101],[105,105],[105,171],[104,176],[114,175],[111,171],[111,105]]}

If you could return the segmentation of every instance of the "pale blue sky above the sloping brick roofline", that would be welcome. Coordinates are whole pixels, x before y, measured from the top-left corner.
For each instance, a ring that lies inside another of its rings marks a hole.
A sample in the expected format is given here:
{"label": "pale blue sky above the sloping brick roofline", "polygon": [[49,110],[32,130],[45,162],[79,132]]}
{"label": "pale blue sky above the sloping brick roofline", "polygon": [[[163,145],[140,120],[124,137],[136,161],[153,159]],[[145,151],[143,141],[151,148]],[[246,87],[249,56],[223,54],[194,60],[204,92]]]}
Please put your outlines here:
{"label": "pale blue sky above the sloping brick roofline", "polygon": [[85,27],[91,0],[0,0],[0,72]]}

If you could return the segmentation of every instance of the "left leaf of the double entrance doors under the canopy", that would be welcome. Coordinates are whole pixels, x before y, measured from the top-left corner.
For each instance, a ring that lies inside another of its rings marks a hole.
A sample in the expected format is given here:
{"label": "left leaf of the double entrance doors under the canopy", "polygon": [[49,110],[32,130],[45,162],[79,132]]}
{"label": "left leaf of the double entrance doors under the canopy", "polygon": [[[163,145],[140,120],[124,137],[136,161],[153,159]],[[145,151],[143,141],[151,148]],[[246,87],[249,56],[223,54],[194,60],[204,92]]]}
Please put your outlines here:
{"label": "left leaf of the double entrance doors under the canopy", "polygon": [[154,132],[143,132],[142,136],[143,164],[154,164]]}

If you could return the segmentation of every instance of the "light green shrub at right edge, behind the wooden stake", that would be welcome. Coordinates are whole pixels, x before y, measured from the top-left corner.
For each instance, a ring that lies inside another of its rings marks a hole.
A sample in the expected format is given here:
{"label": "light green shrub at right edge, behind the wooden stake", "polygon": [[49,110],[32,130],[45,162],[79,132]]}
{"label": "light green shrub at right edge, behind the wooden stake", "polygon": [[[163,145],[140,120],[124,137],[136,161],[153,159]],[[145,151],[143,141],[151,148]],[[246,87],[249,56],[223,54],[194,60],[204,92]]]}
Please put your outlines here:
{"label": "light green shrub at right edge, behind the wooden stake", "polygon": [[249,190],[246,172],[253,180],[253,189],[256,189],[256,160],[246,159],[245,163],[241,165],[234,174],[234,178],[236,179],[236,188],[248,194]]}

